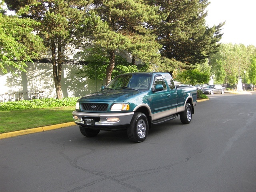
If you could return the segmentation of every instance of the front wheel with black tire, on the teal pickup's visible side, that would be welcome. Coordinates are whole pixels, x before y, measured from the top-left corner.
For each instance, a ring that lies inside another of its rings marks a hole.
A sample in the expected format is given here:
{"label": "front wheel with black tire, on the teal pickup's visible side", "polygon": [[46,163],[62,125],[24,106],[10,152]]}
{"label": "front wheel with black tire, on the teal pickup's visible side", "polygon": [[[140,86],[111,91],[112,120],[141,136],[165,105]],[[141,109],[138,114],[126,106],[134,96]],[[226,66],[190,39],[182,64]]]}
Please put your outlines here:
{"label": "front wheel with black tire, on the teal pickup's visible side", "polygon": [[127,128],[128,138],[135,143],[142,142],[148,136],[148,118],[144,113],[134,113]]}

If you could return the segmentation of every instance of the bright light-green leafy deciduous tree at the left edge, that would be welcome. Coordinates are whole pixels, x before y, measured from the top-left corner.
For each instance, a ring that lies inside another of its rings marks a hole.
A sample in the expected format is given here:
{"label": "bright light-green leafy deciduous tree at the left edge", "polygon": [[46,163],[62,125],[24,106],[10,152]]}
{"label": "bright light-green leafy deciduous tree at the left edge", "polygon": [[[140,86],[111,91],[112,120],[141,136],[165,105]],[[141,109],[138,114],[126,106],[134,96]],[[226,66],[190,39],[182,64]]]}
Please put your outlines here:
{"label": "bright light-green leafy deciduous tree at the left edge", "polygon": [[14,73],[14,68],[26,71],[26,62],[32,62],[42,47],[42,39],[32,33],[40,23],[5,15],[3,9],[0,21],[0,69],[4,74]]}

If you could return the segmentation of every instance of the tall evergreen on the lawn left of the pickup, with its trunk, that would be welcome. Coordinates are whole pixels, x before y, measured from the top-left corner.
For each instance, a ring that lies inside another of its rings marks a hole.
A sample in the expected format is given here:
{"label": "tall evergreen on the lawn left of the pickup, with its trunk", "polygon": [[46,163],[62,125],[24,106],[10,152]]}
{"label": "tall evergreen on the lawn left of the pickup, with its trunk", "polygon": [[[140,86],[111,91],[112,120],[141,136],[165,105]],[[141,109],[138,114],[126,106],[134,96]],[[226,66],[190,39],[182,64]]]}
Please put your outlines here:
{"label": "tall evergreen on the lawn left of the pickup, with its trunk", "polygon": [[23,9],[24,18],[32,18],[41,25],[36,28],[51,50],[53,77],[58,99],[63,98],[61,88],[62,62],[66,46],[77,42],[76,28],[86,17],[90,0],[5,0],[10,10]]}

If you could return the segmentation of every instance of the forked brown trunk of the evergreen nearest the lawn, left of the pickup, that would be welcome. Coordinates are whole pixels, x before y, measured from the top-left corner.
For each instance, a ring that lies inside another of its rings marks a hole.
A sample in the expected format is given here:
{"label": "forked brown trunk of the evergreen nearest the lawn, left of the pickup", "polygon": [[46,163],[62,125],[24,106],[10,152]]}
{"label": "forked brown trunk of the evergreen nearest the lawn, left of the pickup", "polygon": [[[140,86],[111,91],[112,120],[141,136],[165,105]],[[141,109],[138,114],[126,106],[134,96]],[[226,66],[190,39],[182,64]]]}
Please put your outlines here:
{"label": "forked brown trunk of the evergreen nearest the lawn, left of the pickup", "polygon": [[52,67],[53,67],[53,79],[54,79],[54,84],[55,84],[55,89],[56,89],[56,95],[57,99],[62,99],[63,94],[62,94],[62,89],[61,89],[61,71],[62,71],[62,60],[61,60],[61,45],[58,44],[58,58],[56,62],[56,45],[54,40],[51,42],[51,50],[52,50]]}

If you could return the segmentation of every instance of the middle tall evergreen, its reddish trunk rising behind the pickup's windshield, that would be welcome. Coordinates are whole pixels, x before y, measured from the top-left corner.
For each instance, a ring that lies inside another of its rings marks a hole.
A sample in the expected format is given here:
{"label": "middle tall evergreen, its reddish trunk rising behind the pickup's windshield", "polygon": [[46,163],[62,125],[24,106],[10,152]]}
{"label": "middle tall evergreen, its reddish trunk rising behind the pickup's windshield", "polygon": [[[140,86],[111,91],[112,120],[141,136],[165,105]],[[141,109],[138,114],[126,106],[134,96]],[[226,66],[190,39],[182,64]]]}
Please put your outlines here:
{"label": "middle tall evergreen, its reddish trunk rising behind the pickup's windshield", "polygon": [[149,26],[153,20],[160,21],[155,9],[142,0],[94,2],[93,11],[99,19],[94,20],[98,28],[92,31],[94,44],[109,54],[106,84],[111,80],[116,52],[129,53],[144,62],[159,60],[160,44],[156,42],[156,35]]}

